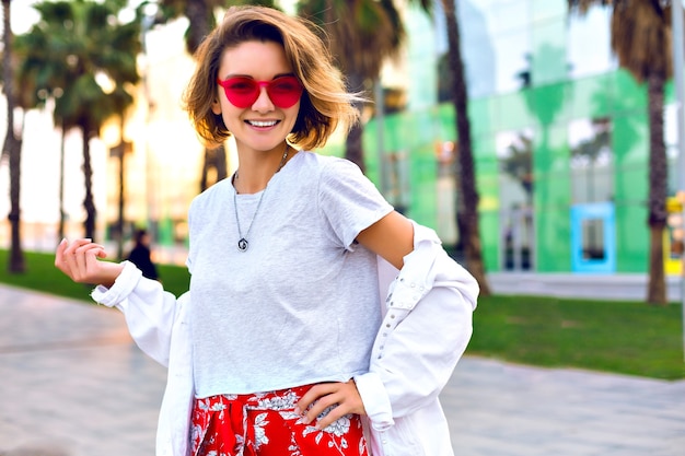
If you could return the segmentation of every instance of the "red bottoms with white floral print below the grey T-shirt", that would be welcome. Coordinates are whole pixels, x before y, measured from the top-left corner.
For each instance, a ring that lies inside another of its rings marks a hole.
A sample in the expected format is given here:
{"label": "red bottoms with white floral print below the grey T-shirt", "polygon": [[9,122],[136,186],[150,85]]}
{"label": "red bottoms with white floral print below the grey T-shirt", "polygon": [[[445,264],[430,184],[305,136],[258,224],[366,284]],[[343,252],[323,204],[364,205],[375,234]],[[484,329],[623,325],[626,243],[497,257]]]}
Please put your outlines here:
{"label": "red bottoms with white floral print below the grey T-shirt", "polygon": [[[190,447],[194,456],[362,456],[361,420],[348,414],[325,429],[302,423],[294,412],[311,386],[252,395],[196,399]],[[325,410],[322,416],[326,414]]]}

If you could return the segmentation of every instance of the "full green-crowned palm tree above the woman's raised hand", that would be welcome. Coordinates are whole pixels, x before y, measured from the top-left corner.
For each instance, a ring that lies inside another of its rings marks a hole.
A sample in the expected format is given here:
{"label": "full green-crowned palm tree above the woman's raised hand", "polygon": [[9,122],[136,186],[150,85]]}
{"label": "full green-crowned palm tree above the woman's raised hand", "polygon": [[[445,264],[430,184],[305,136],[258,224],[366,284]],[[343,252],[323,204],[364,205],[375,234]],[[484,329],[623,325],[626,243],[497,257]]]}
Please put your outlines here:
{"label": "full green-crowned palm tree above the woman's raised hand", "polygon": [[[36,75],[35,90],[55,98],[56,125],[61,125],[62,131],[81,131],[84,232],[90,238],[94,238],[96,219],[90,140],[100,135],[107,119],[125,115],[133,101],[130,92],[140,79],[136,63],[141,47],[140,22],[118,22],[123,3],[73,0],[35,4],[40,20],[21,47],[31,57],[25,71]],[[40,44],[43,49],[35,47]],[[111,86],[103,87],[101,79]],[[55,96],[56,91],[59,96]]]}

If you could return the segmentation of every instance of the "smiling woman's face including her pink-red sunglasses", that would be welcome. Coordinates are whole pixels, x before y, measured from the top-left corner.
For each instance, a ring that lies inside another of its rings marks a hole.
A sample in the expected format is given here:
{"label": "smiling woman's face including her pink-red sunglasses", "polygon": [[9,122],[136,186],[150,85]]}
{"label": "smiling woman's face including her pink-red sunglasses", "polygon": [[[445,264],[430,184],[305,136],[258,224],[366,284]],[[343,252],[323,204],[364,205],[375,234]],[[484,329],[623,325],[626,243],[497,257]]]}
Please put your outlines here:
{"label": "smiling woman's face including her pink-red sunglasses", "polygon": [[255,151],[282,147],[300,110],[300,86],[288,78],[292,75],[277,43],[245,42],[224,50],[212,112],[221,114],[239,147]]}

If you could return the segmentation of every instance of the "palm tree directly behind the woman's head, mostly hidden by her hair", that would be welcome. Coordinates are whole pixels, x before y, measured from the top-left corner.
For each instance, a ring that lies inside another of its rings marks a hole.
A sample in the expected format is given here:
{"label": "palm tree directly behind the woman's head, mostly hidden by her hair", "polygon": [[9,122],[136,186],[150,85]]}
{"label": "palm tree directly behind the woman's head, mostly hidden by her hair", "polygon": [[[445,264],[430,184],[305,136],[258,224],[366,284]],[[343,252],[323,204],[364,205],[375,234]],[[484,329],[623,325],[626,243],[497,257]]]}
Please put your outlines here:
{"label": "palm tree directly behind the woman's head, mostly hidden by her hair", "polygon": [[[186,50],[194,56],[202,43],[202,39],[217,25],[214,12],[220,8],[235,4],[260,4],[276,8],[272,0],[159,0],[159,14],[154,19],[156,24],[163,24],[176,17],[187,17]],[[209,175],[214,171],[214,179],[210,182]],[[223,147],[205,149],[202,171],[200,175],[200,191],[228,176],[227,153]]]}

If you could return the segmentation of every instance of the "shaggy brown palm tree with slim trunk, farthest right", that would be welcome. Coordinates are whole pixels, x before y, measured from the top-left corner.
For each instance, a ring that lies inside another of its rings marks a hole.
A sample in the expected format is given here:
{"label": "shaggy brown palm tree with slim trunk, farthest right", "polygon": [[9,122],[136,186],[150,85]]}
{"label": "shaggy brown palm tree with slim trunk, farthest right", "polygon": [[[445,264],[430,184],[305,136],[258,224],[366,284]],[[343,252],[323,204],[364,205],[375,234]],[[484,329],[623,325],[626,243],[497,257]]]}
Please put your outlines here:
{"label": "shaggy brown palm tree with slim trunk, farthest right", "polygon": [[[663,138],[664,85],[672,74],[671,1],[568,0],[569,9],[584,14],[592,5],[612,9],[612,49],[618,65],[639,82],[647,83],[649,116],[650,229],[647,302],[667,303],[663,265],[663,231],[666,227],[667,160]],[[678,13],[682,7],[678,4]],[[682,38],[681,38],[682,39]]]}

